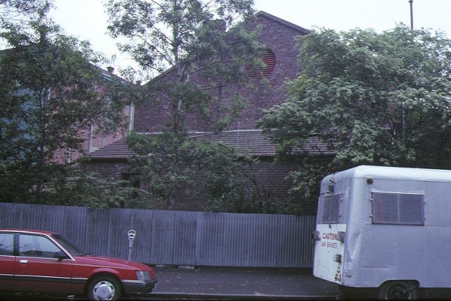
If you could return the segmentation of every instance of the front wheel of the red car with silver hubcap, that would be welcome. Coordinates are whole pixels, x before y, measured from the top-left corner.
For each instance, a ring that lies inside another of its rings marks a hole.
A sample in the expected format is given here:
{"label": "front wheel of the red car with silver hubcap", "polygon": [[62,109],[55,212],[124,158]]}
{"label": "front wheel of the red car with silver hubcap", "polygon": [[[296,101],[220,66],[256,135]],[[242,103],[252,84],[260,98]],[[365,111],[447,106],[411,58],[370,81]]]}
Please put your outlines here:
{"label": "front wheel of the red car with silver hubcap", "polygon": [[119,300],[122,297],[121,283],[111,276],[92,279],[87,286],[89,300]]}

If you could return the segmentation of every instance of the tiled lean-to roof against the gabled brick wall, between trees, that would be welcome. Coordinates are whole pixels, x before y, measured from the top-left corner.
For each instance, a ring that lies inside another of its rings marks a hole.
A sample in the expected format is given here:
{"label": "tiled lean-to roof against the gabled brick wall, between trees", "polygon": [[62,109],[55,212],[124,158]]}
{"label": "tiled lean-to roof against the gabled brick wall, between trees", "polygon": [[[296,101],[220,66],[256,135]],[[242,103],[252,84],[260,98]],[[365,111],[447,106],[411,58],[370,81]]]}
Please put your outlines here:
{"label": "tiled lean-to roof against the gabled brick wall, between trees", "polygon": [[[152,134],[149,134],[152,135]],[[222,141],[233,145],[248,149],[249,154],[254,156],[273,156],[276,152],[276,147],[271,144],[261,130],[240,130],[225,132],[220,135],[212,133],[190,133],[190,137],[201,141]],[[326,148],[316,138],[312,137],[308,145],[304,148],[311,154],[331,154],[330,150]],[[107,145],[95,152],[89,154],[91,159],[128,159],[133,156],[133,152],[128,149],[125,138]]]}

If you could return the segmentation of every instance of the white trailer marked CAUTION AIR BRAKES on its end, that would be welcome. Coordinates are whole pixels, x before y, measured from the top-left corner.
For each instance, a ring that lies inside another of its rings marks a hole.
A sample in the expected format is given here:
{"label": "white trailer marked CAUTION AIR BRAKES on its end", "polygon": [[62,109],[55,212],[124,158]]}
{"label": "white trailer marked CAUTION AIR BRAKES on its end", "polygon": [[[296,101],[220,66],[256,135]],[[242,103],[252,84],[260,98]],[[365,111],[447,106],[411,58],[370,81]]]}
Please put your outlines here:
{"label": "white trailer marked CAUTION AIR BRAKES on its end", "polygon": [[321,182],[314,276],[343,293],[451,288],[451,171],[358,166]]}

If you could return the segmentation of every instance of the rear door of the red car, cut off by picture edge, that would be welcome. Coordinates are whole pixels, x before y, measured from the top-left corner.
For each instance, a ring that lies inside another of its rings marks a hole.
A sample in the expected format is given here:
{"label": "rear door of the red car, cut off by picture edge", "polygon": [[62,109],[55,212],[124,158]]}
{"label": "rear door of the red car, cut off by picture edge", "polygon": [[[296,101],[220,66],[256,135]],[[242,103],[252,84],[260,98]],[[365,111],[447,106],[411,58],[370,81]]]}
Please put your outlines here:
{"label": "rear door of the red car, cut off by picture edge", "polygon": [[14,233],[0,232],[0,290],[10,290],[14,276]]}

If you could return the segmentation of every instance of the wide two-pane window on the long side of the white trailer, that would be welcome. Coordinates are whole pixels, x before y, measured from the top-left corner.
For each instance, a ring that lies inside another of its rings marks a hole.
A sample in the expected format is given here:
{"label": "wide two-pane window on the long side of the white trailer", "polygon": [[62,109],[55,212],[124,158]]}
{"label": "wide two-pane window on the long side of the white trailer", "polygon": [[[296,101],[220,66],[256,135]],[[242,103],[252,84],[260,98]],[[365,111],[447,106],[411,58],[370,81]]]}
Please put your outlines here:
{"label": "wide two-pane window on the long side of the white trailer", "polygon": [[424,225],[424,195],[373,192],[373,223]]}

